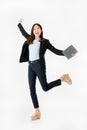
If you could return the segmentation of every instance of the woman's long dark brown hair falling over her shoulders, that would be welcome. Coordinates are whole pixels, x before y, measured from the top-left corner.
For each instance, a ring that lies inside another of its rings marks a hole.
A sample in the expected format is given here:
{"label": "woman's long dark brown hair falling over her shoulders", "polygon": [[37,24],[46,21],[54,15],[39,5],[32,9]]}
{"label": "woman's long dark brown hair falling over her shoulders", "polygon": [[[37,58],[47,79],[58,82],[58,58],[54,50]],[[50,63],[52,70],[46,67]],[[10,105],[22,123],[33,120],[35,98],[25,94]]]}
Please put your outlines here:
{"label": "woman's long dark brown hair falling over her shoulders", "polygon": [[44,38],[43,38],[42,26],[41,26],[39,23],[35,23],[35,24],[32,26],[32,28],[31,28],[31,35],[30,35],[30,37],[29,37],[29,39],[28,39],[28,44],[32,44],[32,43],[33,43],[33,40],[35,39],[35,35],[34,35],[34,33],[33,33],[33,29],[34,29],[34,26],[35,26],[35,25],[38,25],[38,26],[40,27],[40,29],[41,29],[40,41],[43,41],[43,40],[44,40]]}

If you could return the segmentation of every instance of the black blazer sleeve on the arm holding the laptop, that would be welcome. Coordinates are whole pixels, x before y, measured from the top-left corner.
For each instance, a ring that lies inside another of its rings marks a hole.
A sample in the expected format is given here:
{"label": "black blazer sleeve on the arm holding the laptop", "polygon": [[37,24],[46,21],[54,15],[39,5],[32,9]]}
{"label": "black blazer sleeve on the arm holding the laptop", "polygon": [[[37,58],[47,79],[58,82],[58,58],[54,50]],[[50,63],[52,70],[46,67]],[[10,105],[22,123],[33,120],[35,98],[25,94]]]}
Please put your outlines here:
{"label": "black blazer sleeve on the arm holding the laptop", "polygon": [[50,51],[52,51],[53,53],[55,53],[56,55],[61,55],[61,56],[64,56],[63,54],[63,50],[59,50],[59,49],[56,49],[48,40],[48,49]]}

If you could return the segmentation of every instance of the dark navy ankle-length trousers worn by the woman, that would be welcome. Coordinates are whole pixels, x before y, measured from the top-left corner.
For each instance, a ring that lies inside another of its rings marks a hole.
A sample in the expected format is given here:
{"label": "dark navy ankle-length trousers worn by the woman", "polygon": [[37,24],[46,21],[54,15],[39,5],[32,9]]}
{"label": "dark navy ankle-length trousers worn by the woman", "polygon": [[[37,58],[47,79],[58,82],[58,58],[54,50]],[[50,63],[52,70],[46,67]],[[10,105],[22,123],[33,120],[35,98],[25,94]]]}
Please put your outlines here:
{"label": "dark navy ankle-length trousers worn by the woman", "polygon": [[50,82],[50,83],[47,83],[46,73],[45,73],[45,70],[43,70],[41,68],[40,60],[37,60],[35,62],[29,62],[28,81],[29,81],[29,86],[30,86],[30,95],[32,98],[34,108],[39,107],[37,94],[36,94],[36,87],[35,87],[36,77],[38,77],[40,84],[42,86],[42,89],[44,91],[48,91],[53,87],[61,85],[60,79],[57,79],[57,80]]}

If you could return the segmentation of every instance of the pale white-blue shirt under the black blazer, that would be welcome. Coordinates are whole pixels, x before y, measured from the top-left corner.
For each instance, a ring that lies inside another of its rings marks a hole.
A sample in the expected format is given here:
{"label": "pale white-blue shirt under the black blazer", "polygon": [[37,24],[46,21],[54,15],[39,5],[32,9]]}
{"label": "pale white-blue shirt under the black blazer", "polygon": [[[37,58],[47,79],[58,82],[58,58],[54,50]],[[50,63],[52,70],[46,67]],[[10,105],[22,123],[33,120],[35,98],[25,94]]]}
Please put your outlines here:
{"label": "pale white-blue shirt under the black blazer", "polygon": [[39,49],[40,49],[40,42],[35,39],[33,41],[33,44],[29,45],[29,60],[30,61],[35,61],[35,60],[40,59]]}

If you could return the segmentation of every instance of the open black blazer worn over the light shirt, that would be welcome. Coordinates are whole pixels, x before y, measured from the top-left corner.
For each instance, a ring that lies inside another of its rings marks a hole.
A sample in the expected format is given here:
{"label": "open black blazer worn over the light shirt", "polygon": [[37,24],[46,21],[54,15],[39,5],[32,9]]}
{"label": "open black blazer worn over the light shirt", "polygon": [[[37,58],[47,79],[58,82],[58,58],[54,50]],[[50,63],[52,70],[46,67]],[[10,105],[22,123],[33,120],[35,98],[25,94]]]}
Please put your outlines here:
{"label": "open black blazer worn over the light shirt", "polygon": [[[25,31],[25,29],[23,28],[21,23],[18,24],[18,28],[21,31],[22,35],[28,40],[30,35]],[[20,59],[19,59],[19,61],[21,63],[29,61],[29,49],[28,49],[29,44],[27,43],[27,40],[24,42],[24,44],[22,46],[22,51],[21,51],[21,55],[20,55]],[[45,69],[44,54],[47,49],[49,49],[50,51],[52,51],[53,53],[55,53],[57,55],[64,56],[62,50],[56,49],[54,46],[52,46],[52,44],[49,42],[48,39],[44,39],[43,41],[41,41],[40,51],[39,51],[41,66],[44,69]]]}

